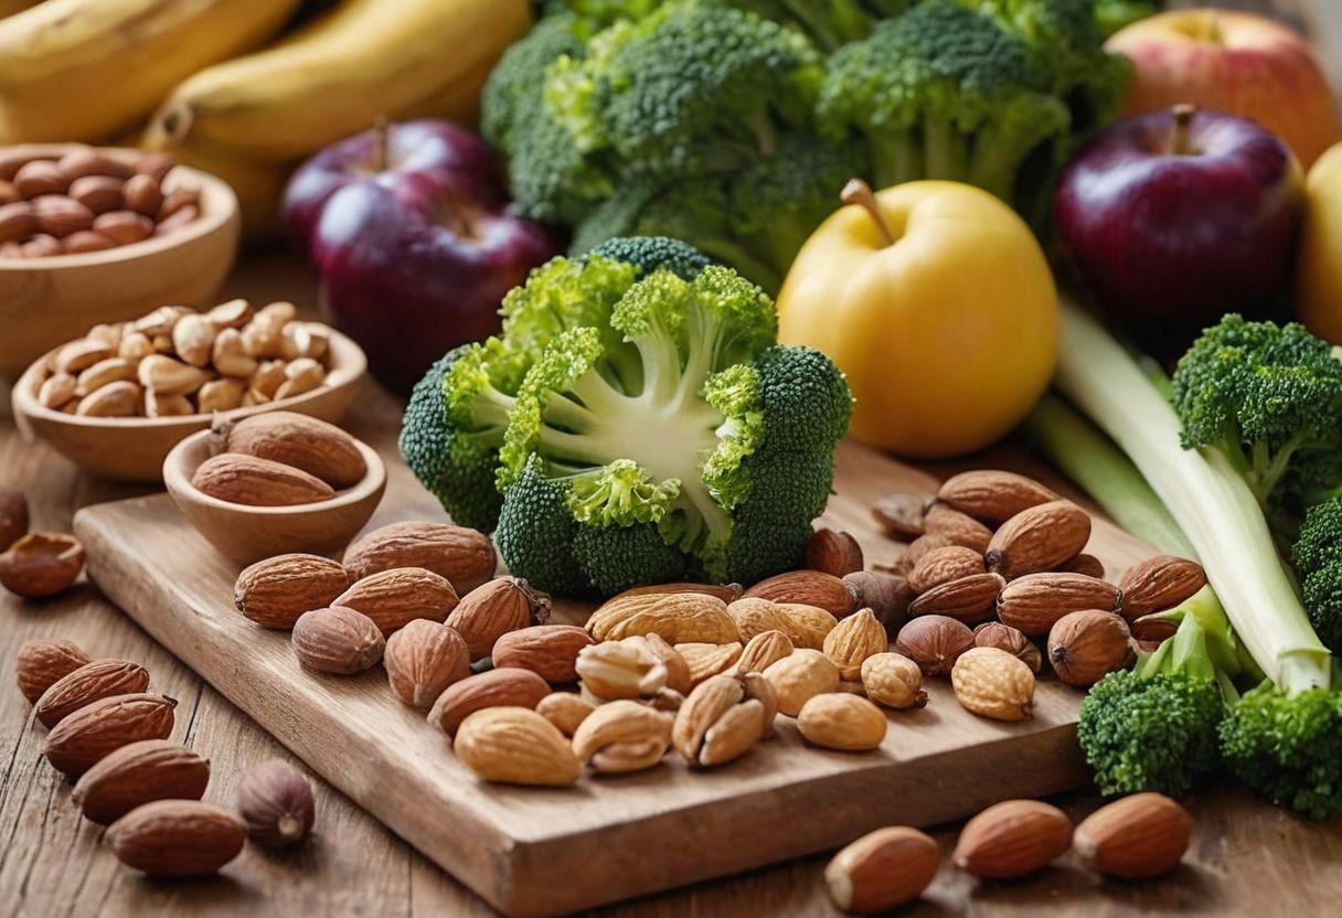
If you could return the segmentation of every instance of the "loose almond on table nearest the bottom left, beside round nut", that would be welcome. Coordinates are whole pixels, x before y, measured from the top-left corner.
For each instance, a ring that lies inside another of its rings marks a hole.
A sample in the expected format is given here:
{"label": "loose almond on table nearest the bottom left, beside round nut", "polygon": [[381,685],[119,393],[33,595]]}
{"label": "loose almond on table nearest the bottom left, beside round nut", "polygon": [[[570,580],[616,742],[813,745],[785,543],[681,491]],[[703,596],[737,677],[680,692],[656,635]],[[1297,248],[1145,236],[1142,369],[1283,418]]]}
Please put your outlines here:
{"label": "loose almond on table nearest the bottom left, beside round nut", "polygon": [[236,816],[199,800],[156,800],[107,829],[117,859],[150,876],[208,876],[236,858],[247,831]]}

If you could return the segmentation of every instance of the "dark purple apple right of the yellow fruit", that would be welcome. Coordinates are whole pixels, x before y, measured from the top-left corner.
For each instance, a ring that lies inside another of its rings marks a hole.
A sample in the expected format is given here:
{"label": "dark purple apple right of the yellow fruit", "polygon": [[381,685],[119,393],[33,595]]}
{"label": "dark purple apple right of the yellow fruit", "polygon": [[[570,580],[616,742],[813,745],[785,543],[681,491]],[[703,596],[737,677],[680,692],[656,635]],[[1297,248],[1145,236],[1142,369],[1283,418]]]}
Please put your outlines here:
{"label": "dark purple apple right of the yellow fruit", "polygon": [[1176,106],[1113,125],[1063,172],[1057,238],[1096,306],[1159,356],[1287,286],[1300,168],[1253,121]]}

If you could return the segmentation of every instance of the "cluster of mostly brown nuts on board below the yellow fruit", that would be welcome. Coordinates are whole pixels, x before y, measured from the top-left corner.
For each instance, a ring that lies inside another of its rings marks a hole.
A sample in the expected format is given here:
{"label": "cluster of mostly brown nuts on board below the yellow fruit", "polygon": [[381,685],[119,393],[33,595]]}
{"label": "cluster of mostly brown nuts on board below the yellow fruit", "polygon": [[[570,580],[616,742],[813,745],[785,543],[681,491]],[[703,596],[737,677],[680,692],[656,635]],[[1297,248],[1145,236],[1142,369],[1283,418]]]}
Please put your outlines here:
{"label": "cluster of mostly brown nuts on board below the yellow fruit", "polygon": [[1045,659],[1078,687],[1126,667],[1134,628],[1142,639],[1168,633],[1143,616],[1206,584],[1196,561],[1174,556],[1107,582],[1099,560],[1084,553],[1090,515],[1013,472],[954,475],[930,501],[892,494],[872,514],[909,542],[891,568],[913,596],[895,650],[925,675],[949,674],[961,703],[984,717],[1028,717]]}

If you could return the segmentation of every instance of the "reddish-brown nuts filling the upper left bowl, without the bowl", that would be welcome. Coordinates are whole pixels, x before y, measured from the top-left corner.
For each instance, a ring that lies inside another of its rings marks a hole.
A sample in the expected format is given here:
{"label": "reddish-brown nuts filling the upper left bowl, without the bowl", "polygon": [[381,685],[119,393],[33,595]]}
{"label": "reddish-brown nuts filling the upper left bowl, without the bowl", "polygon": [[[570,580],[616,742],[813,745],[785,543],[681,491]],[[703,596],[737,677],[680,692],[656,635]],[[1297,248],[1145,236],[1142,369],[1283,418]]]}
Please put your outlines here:
{"label": "reddish-brown nuts filling the upper left bowl, without the bowl", "polygon": [[200,193],[166,188],[177,162],[145,153],[126,162],[76,146],[60,157],[0,148],[0,258],[101,252],[181,230]]}

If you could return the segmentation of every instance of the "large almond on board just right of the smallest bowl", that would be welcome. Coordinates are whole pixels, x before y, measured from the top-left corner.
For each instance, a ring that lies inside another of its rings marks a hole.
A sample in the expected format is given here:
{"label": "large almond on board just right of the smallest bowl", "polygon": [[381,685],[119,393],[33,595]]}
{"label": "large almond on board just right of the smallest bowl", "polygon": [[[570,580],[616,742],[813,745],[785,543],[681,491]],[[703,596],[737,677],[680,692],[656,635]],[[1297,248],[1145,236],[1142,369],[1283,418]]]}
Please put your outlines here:
{"label": "large almond on board just right of the smallest bowl", "polygon": [[450,523],[391,523],[368,533],[345,552],[345,569],[353,580],[392,568],[424,568],[447,577],[458,596],[491,580],[497,566],[488,536]]}

